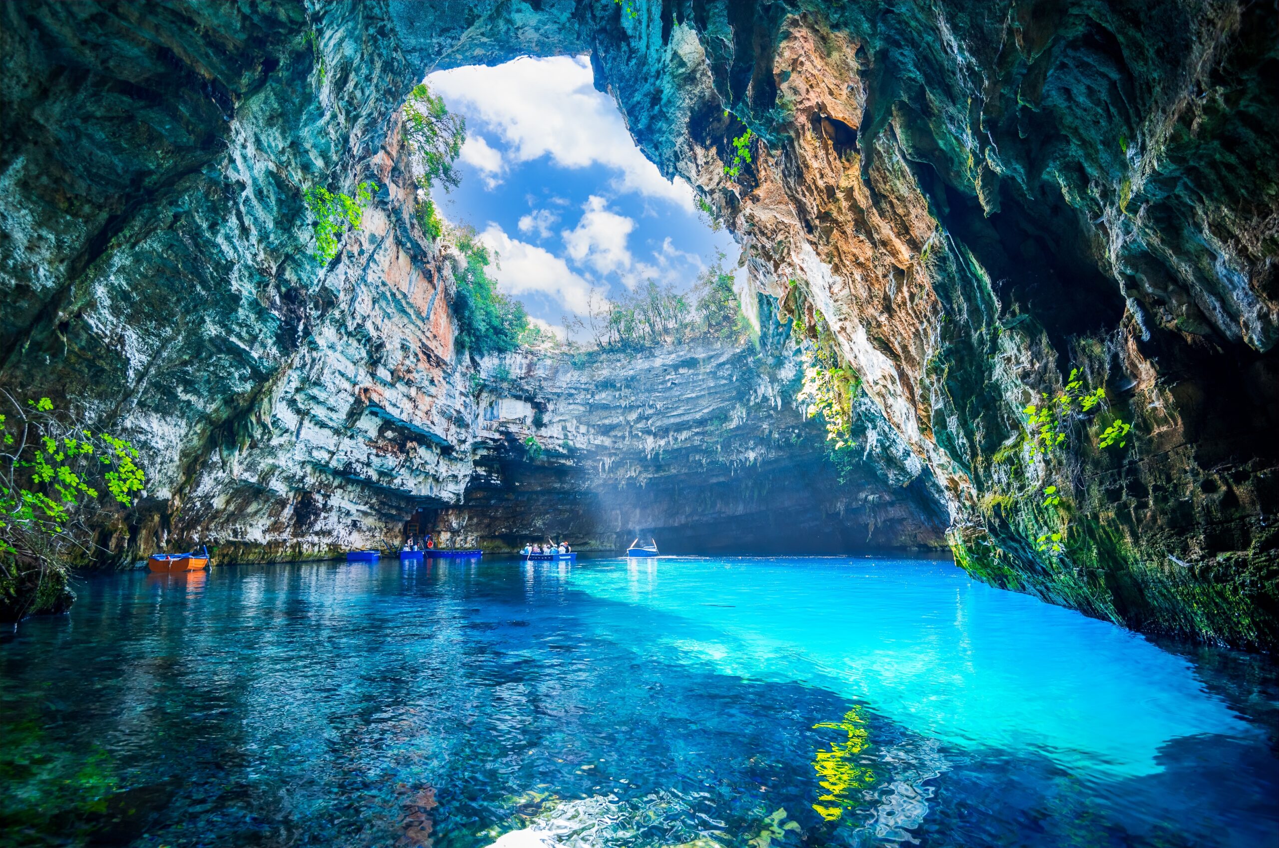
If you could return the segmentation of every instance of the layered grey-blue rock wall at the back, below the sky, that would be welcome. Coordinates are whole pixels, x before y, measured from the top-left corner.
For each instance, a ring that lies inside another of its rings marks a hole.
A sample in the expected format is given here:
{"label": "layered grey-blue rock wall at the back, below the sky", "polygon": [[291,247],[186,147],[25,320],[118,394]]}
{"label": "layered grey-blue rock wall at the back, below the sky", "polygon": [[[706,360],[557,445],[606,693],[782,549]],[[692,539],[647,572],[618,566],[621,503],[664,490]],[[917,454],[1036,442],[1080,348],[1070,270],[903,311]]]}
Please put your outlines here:
{"label": "layered grey-blue rock wall at the back, below the sky", "polygon": [[[485,363],[476,475],[427,511],[444,547],[547,536],[616,550],[640,534],[689,553],[932,549],[945,517],[888,427],[843,471],[797,409],[794,349],[692,344]],[[876,420],[874,415],[867,421]]]}

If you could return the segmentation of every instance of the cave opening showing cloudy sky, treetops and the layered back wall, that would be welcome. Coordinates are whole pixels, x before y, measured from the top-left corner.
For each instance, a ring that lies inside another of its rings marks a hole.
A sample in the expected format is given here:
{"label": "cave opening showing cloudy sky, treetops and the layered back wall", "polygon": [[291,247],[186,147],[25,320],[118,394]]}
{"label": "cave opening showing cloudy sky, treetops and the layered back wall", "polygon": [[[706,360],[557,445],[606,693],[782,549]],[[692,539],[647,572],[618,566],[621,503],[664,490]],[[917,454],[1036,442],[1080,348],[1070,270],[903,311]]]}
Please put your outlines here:
{"label": "cave opening showing cloudy sky, treetops and the layered back wall", "polygon": [[[657,170],[596,70],[565,55],[425,79],[466,121],[460,180],[427,194],[444,241],[482,244],[540,337],[471,358],[491,438],[463,502],[411,524],[499,550],[547,536],[618,549],[638,534],[686,553],[936,545],[943,517],[921,487],[833,462],[798,407],[789,326],[748,292],[721,213]],[[752,149],[724,116],[693,120]],[[842,156],[856,147],[848,124],[817,126]]]}

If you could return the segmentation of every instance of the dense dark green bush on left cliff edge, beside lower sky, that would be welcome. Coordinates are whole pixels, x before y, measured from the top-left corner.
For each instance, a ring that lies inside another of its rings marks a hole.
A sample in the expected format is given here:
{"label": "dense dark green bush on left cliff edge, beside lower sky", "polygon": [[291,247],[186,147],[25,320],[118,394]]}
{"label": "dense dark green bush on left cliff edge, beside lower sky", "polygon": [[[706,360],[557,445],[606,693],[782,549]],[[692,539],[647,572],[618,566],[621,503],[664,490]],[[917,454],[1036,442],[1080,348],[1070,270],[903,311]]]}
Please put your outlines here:
{"label": "dense dark green bush on left cliff edge, beside lower sky", "polygon": [[455,277],[453,299],[458,349],[475,356],[515,350],[528,329],[528,314],[523,305],[498,291],[496,281],[489,276],[492,257],[475,230],[459,230],[455,240],[467,261]]}

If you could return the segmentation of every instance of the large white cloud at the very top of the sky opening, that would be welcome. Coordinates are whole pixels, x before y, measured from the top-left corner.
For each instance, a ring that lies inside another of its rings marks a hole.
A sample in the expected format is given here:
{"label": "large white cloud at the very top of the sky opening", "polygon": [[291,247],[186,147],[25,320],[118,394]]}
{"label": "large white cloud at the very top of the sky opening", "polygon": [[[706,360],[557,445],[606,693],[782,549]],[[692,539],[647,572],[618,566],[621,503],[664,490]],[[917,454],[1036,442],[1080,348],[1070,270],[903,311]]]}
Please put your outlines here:
{"label": "large white cloud at the very top of the sky opening", "polygon": [[550,156],[563,167],[605,165],[618,171],[616,190],[693,209],[688,184],[671,183],[645,158],[616,105],[595,89],[586,56],[467,65],[436,72],[427,82],[455,109],[500,135],[517,161]]}

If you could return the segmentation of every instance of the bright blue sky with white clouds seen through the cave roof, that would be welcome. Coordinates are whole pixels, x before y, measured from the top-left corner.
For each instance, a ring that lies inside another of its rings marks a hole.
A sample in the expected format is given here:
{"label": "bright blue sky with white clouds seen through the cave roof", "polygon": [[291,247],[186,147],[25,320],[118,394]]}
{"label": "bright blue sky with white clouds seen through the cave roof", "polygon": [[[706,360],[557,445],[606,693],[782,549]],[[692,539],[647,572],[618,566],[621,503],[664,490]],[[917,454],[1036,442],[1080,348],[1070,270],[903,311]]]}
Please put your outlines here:
{"label": "bright blue sky with white clouds seen through the cave roof", "polygon": [[499,255],[495,276],[544,326],[657,280],[689,287],[716,249],[692,189],[666,180],[634,146],[616,105],[595,91],[586,56],[517,59],[426,78],[466,116],[462,185],[434,192]]}

